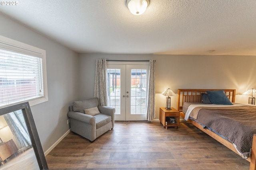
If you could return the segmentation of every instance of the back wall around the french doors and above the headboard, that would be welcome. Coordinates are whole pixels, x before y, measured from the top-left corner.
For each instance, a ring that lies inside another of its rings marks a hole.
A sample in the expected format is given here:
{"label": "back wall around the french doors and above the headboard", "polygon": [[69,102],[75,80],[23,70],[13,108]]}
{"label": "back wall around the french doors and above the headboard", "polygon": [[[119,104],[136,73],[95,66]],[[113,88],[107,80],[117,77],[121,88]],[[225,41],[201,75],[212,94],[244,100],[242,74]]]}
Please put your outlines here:
{"label": "back wall around the french doors and above the headboard", "polygon": [[[93,97],[95,60],[156,60],[156,119],[159,107],[165,107],[166,97],[161,93],[171,88],[236,89],[236,102],[248,103],[242,94],[256,88],[256,56],[196,56],[196,55],[130,55],[80,54],[80,99]],[[248,63],[252,66],[248,66]],[[177,97],[171,98],[177,107]]]}

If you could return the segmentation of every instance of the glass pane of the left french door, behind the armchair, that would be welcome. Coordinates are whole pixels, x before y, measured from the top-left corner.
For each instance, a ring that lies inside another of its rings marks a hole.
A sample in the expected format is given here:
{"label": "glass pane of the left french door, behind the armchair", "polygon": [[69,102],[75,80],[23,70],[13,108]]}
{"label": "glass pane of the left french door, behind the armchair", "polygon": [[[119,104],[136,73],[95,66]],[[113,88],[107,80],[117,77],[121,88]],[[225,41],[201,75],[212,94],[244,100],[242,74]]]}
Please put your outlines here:
{"label": "glass pane of the left french door, behind the armchair", "polygon": [[120,115],[120,69],[107,69],[108,106],[116,109]]}

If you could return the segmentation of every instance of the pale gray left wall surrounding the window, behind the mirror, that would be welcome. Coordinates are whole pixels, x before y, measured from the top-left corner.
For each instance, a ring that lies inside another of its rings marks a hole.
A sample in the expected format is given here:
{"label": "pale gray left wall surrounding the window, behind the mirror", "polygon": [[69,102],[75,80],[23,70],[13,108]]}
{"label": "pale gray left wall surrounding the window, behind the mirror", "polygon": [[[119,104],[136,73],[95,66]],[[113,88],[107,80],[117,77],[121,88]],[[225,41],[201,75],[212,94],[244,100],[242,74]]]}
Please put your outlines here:
{"label": "pale gray left wall surrounding the window, behind the mirror", "polygon": [[0,35],[46,50],[48,102],[31,107],[44,152],[64,133],[68,106],[78,99],[78,54],[0,14]]}

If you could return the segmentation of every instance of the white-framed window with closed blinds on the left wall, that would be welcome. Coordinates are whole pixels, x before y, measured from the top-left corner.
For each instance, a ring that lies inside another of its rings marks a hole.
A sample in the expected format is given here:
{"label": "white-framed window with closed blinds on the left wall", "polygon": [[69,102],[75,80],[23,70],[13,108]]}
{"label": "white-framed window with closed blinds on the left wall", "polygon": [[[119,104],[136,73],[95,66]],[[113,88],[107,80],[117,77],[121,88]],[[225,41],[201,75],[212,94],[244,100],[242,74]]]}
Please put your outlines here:
{"label": "white-framed window with closed blinds on the left wall", "polygon": [[47,101],[45,51],[0,37],[0,107]]}

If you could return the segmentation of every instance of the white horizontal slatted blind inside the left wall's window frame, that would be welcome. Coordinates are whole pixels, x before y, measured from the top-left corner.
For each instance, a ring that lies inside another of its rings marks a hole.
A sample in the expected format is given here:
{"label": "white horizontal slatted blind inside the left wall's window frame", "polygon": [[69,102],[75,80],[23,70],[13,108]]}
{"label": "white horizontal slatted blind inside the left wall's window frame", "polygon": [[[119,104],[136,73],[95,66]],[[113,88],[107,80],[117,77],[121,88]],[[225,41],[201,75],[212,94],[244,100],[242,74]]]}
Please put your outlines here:
{"label": "white horizontal slatted blind inside the left wall's window frame", "polygon": [[0,106],[42,97],[42,59],[0,49]]}

